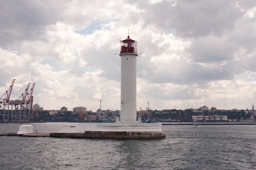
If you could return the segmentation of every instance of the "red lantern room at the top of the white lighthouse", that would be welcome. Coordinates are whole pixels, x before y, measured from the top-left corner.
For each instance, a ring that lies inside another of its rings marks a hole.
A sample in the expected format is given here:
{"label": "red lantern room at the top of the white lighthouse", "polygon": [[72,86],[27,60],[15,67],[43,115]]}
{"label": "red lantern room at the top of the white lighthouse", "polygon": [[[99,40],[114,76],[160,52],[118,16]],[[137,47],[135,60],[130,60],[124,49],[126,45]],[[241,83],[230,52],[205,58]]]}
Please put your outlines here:
{"label": "red lantern room at the top of the white lighthouse", "polygon": [[120,54],[122,53],[137,54],[137,41],[132,40],[129,35],[125,40],[120,41],[120,45],[121,45]]}

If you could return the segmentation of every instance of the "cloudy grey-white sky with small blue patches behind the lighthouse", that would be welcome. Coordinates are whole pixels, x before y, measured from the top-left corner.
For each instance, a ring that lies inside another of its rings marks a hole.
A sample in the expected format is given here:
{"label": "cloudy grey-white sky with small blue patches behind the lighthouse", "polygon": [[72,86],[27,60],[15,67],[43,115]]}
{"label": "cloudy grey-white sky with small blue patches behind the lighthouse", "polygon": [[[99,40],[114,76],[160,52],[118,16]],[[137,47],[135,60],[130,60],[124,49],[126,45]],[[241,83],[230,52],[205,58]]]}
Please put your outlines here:
{"label": "cloudy grey-white sky with small blue patches behind the lighthouse", "polygon": [[0,93],[120,109],[119,39],[138,41],[137,108],[256,104],[255,0],[0,0]]}

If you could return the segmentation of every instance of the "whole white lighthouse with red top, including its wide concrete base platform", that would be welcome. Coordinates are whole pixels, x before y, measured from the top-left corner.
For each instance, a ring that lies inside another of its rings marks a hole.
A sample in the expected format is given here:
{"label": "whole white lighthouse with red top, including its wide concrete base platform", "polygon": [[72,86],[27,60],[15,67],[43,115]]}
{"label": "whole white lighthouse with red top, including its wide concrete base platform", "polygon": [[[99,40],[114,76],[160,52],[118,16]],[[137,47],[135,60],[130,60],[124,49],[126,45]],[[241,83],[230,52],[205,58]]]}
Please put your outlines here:
{"label": "whole white lighthouse with red top, including its wide concrete base platform", "polygon": [[[52,137],[159,139],[165,138],[161,123],[137,121],[136,108],[136,58],[137,42],[130,38],[120,41],[121,96],[120,118],[116,123],[78,123],[62,126]],[[101,110],[101,109],[100,109]]]}

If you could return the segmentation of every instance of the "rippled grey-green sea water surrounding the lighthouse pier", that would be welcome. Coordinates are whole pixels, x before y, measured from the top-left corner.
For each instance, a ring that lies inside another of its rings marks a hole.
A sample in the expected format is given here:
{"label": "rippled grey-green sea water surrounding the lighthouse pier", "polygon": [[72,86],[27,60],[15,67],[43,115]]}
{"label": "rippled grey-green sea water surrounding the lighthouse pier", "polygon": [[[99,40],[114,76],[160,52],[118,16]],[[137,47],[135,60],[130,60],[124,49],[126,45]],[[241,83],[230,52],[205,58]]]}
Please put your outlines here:
{"label": "rippled grey-green sea water surrounding the lighthouse pier", "polygon": [[[32,124],[48,133],[76,123]],[[156,140],[0,136],[0,170],[256,170],[256,125],[163,129],[166,139]]]}

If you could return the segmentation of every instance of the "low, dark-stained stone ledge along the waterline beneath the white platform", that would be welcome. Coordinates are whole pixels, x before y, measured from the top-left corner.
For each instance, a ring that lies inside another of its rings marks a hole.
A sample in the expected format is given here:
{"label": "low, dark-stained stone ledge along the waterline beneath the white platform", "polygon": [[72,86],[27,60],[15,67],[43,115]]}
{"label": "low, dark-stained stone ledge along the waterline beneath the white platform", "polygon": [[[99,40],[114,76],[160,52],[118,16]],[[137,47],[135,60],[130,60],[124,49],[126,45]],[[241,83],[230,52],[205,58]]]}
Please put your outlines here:
{"label": "low, dark-stained stone ledge along the waterline beneath the white platform", "polygon": [[0,133],[0,136],[24,137],[68,137],[68,138],[97,138],[97,139],[164,139],[164,132],[106,132],[85,131],[84,133]]}

